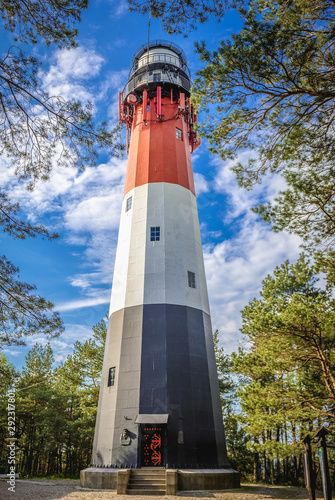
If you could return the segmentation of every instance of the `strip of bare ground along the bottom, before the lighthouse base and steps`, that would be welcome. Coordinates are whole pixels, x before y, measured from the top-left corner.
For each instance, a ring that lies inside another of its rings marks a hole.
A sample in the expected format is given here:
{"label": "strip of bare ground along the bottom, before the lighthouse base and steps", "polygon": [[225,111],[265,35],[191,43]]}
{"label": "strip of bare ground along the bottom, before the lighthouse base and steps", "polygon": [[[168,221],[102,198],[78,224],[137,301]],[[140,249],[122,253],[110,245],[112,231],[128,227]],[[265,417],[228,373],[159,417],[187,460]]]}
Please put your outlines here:
{"label": "strip of bare ground along the bottom, before the lighthouse base and steps", "polygon": [[[15,492],[8,491],[5,480],[0,481],[1,500],[132,500],[130,495],[117,495],[112,491],[82,490],[79,481],[27,479],[16,480]],[[183,491],[177,496],[136,496],[137,500],[173,500],[177,498],[196,500],[198,498],[212,500],[308,500],[307,490],[284,486],[262,486],[243,484],[241,488],[224,491]],[[321,492],[316,495],[322,499]]]}

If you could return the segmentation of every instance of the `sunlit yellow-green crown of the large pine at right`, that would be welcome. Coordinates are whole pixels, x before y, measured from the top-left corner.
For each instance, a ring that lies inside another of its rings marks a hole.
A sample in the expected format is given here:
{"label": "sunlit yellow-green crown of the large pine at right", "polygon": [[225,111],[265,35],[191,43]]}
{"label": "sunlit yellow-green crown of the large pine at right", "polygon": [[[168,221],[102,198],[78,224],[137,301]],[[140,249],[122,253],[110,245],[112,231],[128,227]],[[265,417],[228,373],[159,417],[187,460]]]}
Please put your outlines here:
{"label": "sunlit yellow-green crown of the large pine at right", "polygon": [[251,360],[250,376],[273,380],[282,411],[298,406],[327,421],[335,409],[335,301],[316,282],[304,256],[277,267],[263,280],[261,298],[242,311],[242,332],[251,356],[262,360]]}

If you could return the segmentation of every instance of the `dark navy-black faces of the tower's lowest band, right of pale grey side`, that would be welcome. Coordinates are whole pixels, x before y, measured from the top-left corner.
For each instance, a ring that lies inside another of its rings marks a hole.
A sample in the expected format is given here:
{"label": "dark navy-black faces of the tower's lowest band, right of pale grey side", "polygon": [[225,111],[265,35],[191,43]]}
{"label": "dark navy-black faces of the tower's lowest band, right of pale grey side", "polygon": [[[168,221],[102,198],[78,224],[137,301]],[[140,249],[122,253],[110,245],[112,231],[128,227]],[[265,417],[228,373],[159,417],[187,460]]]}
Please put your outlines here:
{"label": "dark navy-black faces of the tower's lowest band, right of pale grey side", "polygon": [[210,318],[199,309],[143,308],[140,413],[169,414],[169,467],[227,466],[217,450],[206,324]]}

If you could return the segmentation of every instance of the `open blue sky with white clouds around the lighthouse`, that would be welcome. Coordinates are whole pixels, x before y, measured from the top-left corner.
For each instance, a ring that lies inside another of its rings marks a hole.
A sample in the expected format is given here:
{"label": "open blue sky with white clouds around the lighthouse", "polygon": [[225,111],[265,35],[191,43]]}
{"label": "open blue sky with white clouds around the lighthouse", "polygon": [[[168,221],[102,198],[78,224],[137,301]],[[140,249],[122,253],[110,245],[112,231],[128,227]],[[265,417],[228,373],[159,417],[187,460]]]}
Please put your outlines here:
{"label": "open blue sky with white clouds around the lighthouse", "polygon": [[[158,20],[151,20],[150,39],[169,39],[180,45],[188,59],[192,77],[202,67],[194,42],[205,40],[215,49],[241,26],[231,12],[221,23],[199,26],[188,38],[169,37]],[[117,122],[118,92],[127,81],[132,57],[147,41],[148,16],[129,13],[124,1],[91,0],[79,25],[78,47],[71,50],[32,50],[43,62],[40,79],[45,90],[66,98],[94,104],[97,120]],[[1,51],[11,44],[2,35]],[[201,117],[200,117],[201,118]],[[239,160],[252,153],[244,151]],[[237,186],[229,168],[207,150],[206,141],[192,156],[199,219],[213,329],[227,352],[236,350],[241,336],[240,311],[260,290],[261,280],[286,258],[294,261],[299,238],[274,234],[250,207],[272,199],[283,187],[282,179],[269,175],[252,192]],[[55,359],[71,353],[76,340],[91,335],[91,327],[102,319],[110,300],[114,256],[120,217],[126,158],[102,155],[96,168],[84,172],[55,168],[50,181],[36,185],[31,193],[13,175],[13,168],[0,159],[0,183],[13,201],[19,201],[24,217],[59,232],[57,241],[39,238],[16,241],[0,235],[1,253],[20,268],[23,281],[34,283],[38,293],[51,300],[62,316],[64,334],[52,341]],[[8,358],[20,367],[28,349],[45,343],[43,335],[28,338],[27,347],[6,347]]]}

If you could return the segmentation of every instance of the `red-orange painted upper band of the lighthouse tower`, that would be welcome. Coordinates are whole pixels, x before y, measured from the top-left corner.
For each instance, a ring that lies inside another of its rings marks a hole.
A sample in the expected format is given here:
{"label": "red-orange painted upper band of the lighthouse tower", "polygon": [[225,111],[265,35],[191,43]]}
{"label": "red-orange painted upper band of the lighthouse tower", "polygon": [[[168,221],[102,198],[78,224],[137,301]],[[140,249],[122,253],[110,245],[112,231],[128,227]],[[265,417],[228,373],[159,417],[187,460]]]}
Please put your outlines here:
{"label": "red-orange painted upper band of the lighthouse tower", "polygon": [[[185,102],[185,94],[181,94]],[[158,115],[157,98],[148,99],[146,119],[143,103],[134,104],[125,195],[151,182],[179,184],[195,194],[190,152],[200,140],[192,133],[195,115],[181,109],[180,100],[163,98],[162,114]],[[187,106],[192,109],[189,103]],[[186,140],[176,141],[177,133]]]}

